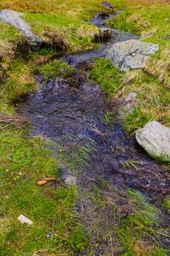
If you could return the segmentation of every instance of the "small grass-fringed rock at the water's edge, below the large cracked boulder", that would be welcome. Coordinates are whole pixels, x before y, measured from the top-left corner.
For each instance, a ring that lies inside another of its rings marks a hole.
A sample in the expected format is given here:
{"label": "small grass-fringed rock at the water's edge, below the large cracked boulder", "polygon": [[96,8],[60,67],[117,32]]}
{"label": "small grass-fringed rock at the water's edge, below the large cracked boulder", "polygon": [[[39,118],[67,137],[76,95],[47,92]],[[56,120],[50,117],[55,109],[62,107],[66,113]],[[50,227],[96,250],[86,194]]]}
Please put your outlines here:
{"label": "small grass-fringed rock at the water's edge, below the large cracked boulder", "polygon": [[138,103],[139,99],[137,98],[136,93],[131,92],[130,94],[128,94],[128,96],[125,99],[123,99],[123,103],[120,106],[120,118],[125,118],[125,116],[127,116],[128,113],[132,113]]}

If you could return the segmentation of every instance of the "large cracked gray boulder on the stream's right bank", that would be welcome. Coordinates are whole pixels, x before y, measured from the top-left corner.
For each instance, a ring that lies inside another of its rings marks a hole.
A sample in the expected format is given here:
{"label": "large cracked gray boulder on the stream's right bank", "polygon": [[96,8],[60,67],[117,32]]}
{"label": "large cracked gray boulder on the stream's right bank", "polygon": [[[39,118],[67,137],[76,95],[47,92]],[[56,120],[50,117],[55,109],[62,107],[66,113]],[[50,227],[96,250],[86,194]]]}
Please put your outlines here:
{"label": "large cracked gray boulder on the stream's right bank", "polygon": [[149,56],[157,52],[158,49],[158,45],[131,39],[113,44],[107,58],[111,59],[112,63],[122,71],[144,69]]}

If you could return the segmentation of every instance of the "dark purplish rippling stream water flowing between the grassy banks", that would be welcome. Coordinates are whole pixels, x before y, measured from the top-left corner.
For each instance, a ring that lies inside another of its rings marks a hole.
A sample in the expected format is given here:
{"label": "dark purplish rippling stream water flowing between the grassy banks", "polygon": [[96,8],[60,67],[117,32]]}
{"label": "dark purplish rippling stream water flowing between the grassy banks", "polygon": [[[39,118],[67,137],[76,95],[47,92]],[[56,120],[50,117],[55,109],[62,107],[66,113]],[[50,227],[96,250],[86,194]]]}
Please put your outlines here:
{"label": "dark purplish rippling stream water flowing between the grassy banks", "polygon": [[[102,27],[108,18],[112,15],[98,14],[91,22]],[[112,30],[112,42],[131,38],[139,39],[134,34]],[[107,189],[113,186],[120,192],[127,188],[138,189],[155,201],[163,196],[163,188],[170,187],[168,174],[136,141],[128,138],[106,99],[107,94],[88,80],[94,58],[106,56],[107,47],[108,43],[103,43],[98,50],[63,56],[64,61],[77,69],[77,75],[69,80],[50,80],[44,89],[28,94],[18,111],[31,120],[31,135],[50,138],[58,154],[64,154],[67,162],[75,163],[74,175],[82,190],[90,191],[94,184],[100,187],[101,181],[108,181]],[[42,76],[38,78],[42,83]],[[119,203],[131,211],[125,198],[120,198]],[[84,202],[87,218],[89,207],[92,206]],[[103,211],[103,214],[112,222],[110,212]]]}

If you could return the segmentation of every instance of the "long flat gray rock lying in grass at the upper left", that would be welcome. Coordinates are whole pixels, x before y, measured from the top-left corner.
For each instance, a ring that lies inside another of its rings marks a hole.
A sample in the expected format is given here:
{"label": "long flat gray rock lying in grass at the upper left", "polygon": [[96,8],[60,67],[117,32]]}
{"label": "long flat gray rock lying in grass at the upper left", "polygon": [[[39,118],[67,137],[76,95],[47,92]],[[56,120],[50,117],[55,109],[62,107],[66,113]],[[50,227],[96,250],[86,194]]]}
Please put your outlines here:
{"label": "long flat gray rock lying in grass at the upper left", "polygon": [[22,16],[24,16],[23,13],[12,10],[2,10],[0,12],[1,21],[9,23],[19,29],[32,48],[39,48],[43,40],[31,31],[30,24],[26,23],[26,21],[21,18]]}

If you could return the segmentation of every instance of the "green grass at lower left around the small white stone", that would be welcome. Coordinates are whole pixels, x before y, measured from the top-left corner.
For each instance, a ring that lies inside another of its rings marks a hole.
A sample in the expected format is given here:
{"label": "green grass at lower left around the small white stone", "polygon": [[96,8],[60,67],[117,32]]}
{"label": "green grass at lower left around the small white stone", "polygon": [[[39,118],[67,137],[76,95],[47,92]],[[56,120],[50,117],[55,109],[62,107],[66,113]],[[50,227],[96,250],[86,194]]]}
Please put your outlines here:
{"label": "green grass at lower left around the small white stone", "polygon": [[[83,251],[90,241],[74,211],[78,192],[62,184],[49,182],[38,187],[36,182],[45,176],[60,178],[61,167],[46,143],[28,140],[23,132],[9,129],[1,133],[0,176],[0,254],[26,255]],[[18,222],[20,214],[34,225]],[[47,233],[53,236],[47,238]],[[16,248],[18,248],[16,252]]]}

